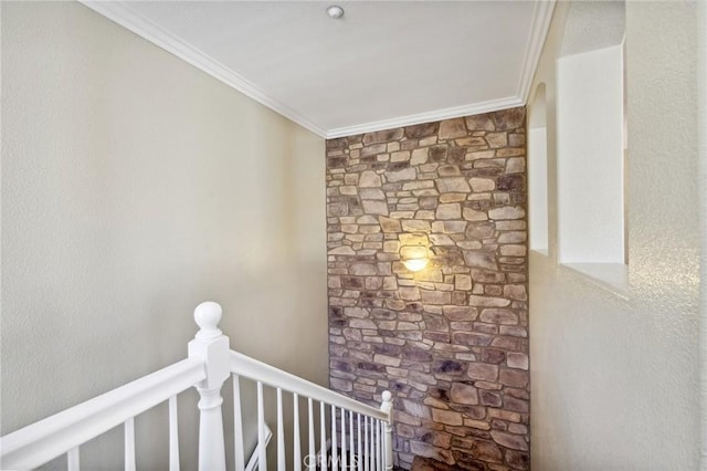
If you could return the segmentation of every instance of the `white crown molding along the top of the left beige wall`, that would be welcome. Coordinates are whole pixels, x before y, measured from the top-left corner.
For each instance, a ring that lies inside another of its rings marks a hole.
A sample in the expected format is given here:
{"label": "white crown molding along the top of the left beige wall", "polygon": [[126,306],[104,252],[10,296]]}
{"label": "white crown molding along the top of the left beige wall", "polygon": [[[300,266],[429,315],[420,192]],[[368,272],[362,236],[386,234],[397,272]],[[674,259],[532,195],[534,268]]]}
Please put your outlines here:
{"label": "white crown molding along the top of the left beige wall", "polygon": [[247,78],[239,75],[218,61],[214,61],[197,48],[165,31],[150,20],[136,12],[126,2],[95,0],[78,0],[78,2],[115,23],[133,31],[135,34],[150,41],[165,51],[175,54],[179,59],[267,106],[274,112],[279,113],[298,125],[318,134],[321,137],[326,137],[327,130],[324,127],[313,123],[299,113],[279,103],[277,100],[272,98],[267,93],[250,82]]}

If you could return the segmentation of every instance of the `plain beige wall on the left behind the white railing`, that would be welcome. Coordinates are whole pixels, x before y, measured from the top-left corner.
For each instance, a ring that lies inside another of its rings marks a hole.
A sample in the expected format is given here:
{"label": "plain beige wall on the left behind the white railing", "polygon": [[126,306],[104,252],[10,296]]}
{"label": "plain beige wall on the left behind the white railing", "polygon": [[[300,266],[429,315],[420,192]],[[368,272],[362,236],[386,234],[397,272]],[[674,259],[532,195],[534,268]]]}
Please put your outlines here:
{"label": "plain beige wall on the left behind the white railing", "polygon": [[[2,2],[2,432],[181,359],[204,300],[232,347],[326,384],[323,156],[78,3]],[[140,469],[166,423],[138,418]],[[82,464],[116,468],[120,433]]]}

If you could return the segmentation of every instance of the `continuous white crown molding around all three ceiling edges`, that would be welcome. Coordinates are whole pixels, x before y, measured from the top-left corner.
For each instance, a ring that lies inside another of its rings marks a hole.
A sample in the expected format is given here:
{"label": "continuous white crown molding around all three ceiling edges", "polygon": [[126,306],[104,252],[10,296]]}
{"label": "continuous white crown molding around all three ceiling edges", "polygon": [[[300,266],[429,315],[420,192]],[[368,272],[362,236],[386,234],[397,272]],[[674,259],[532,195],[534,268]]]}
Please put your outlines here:
{"label": "continuous white crown molding around all three ceiling edges", "polygon": [[114,21],[115,23],[133,31],[135,34],[150,41],[165,51],[175,54],[184,62],[193,65],[212,77],[238,90],[244,95],[255,100],[264,106],[293,121],[294,123],[312,130],[313,133],[327,139],[351,136],[355,134],[370,133],[381,129],[390,129],[414,124],[431,123],[442,119],[450,119],[461,116],[469,116],[481,113],[496,112],[499,109],[524,106],[528,98],[530,84],[535,75],[540,52],[545,44],[545,38],[550,27],[552,10],[556,0],[541,0],[536,3],[534,18],[530,27],[530,39],[526,45],[526,53],[521,66],[521,76],[516,96],[493,100],[488,102],[472,103],[451,108],[443,108],[433,112],[399,116],[390,119],[363,123],[354,126],[344,126],[334,129],[326,129],[321,125],[312,122],[302,114],[284,105],[279,101],[271,97],[265,91],[242,75],[233,72],[225,65],[213,60],[193,45],[182,41],[178,36],[165,31],[152,21],[146,19],[127,2],[78,0],[82,4]]}

